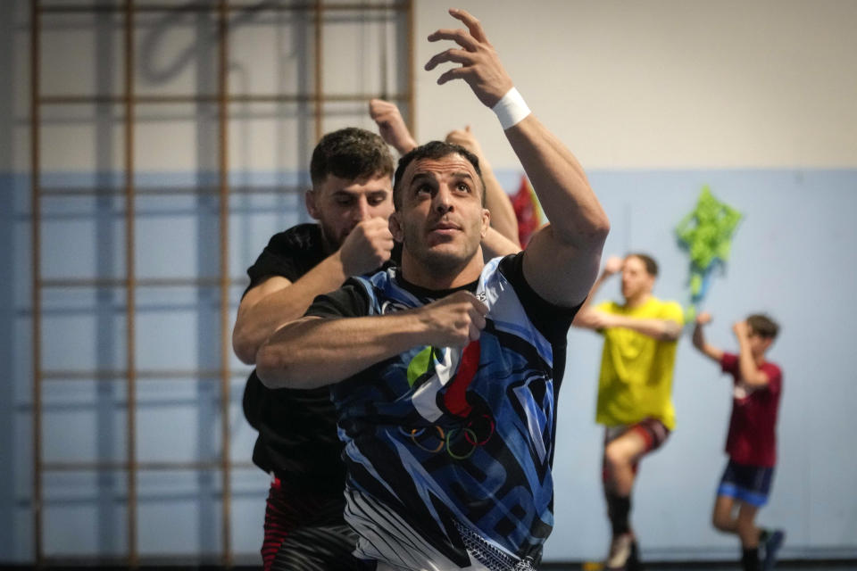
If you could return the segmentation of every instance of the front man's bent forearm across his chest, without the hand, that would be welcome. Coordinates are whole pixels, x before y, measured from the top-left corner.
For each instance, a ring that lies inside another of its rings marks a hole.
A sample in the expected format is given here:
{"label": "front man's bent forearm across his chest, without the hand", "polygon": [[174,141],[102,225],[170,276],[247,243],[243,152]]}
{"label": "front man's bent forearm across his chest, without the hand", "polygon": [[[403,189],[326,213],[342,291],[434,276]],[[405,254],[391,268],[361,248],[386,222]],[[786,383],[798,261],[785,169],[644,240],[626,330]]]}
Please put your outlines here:
{"label": "front man's bent forearm across his chest, without the hand", "polygon": [[420,344],[425,327],[414,311],[365,318],[299,319],[270,336],[256,355],[269,388],[337,383]]}

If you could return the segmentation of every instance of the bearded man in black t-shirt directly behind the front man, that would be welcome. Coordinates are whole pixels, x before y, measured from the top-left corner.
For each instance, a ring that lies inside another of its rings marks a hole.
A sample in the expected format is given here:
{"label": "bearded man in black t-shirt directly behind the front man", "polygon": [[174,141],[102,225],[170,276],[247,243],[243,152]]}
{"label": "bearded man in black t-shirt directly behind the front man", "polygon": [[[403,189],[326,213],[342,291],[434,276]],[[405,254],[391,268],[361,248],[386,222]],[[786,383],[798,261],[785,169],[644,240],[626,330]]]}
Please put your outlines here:
{"label": "bearded man in black t-shirt directly behind the front man", "polygon": [[[237,356],[254,364],[280,324],[345,278],[378,269],[393,252],[393,158],[378,135],[344,128],[312,153],[306,208],[317,224],[271,237],[247,270],[250,285],[233,331]],[[345,468],[329,390],[270,390],[247,379],[245,417],[256,430],[254,463],[272,476],[262,544],[264,569],[354,569],[354,534],[342,517]]]}

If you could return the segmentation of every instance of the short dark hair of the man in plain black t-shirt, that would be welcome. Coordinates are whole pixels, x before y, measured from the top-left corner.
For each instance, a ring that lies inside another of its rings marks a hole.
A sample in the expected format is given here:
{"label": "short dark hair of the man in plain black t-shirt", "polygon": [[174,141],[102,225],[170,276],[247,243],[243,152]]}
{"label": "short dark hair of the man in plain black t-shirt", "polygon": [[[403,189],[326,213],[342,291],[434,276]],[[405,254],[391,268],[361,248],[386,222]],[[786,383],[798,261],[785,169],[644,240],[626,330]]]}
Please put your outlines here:
{"label": "short dark hair of the man in plain black t-shirt", "polygon": [[393,176],[393,156],[384,139],[366,129],[347,127],[321,137],[310,161],[312,186],[328,175],[346,180]]}

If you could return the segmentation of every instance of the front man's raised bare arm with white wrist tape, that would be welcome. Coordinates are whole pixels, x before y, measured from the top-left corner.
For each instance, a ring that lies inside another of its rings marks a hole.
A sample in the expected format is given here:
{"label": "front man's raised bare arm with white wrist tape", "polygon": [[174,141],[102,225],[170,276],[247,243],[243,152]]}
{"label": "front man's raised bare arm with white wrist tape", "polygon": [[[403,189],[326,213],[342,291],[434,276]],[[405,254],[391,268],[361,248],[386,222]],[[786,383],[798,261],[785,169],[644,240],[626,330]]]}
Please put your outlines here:
{"label": "front man's raised bare arm with white wrist tape", "polygon": [[450,10],[467,29],[438,29],[429,41],[453,40],[458,48],[436,54],[427,70],[443,62],[461,63],[437,79],[463,79],[479,101],[493,109],[506,138],[527,172],[551,224],[542,228],[524,254],[527,282],[548,302],[573,306],[583,302],[598,273],[610,223],[589,186],[578,160],[529,112],[513,88],[479,21],[463,10]]}

